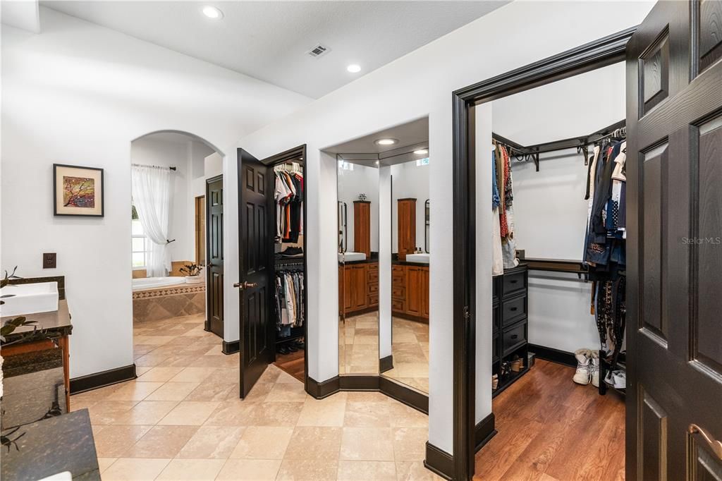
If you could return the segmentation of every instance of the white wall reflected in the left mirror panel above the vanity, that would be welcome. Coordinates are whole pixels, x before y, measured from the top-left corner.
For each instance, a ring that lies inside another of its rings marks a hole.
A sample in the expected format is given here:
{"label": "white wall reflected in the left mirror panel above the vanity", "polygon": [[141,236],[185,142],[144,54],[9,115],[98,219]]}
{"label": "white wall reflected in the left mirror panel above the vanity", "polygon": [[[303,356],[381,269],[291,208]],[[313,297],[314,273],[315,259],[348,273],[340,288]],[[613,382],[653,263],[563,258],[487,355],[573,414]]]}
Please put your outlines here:
{"label": "white wall reflected in the left mirror panel above the vanity", "polygon": [[355,252],[354,201],[359,194],[366,194],[371,202],[371,251],[378,252],[378,168],[353,164],[354,170],[339,169],[339,201],[346,202],[348,246],[347,252]]}

